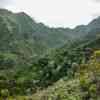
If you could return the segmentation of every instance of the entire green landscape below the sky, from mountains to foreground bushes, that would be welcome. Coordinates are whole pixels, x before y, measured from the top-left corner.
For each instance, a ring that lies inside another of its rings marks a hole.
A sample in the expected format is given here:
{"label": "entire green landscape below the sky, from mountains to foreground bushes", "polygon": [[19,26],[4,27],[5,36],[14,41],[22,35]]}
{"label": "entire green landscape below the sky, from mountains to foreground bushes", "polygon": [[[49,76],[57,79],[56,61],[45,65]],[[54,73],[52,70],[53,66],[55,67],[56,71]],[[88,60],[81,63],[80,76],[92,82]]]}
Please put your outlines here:
{"label": "entire green landscape below the sky, from mountains to foreground bushes", "polygon": [[74,29],[0,9],[1,100],[99,100],[100,17]]}

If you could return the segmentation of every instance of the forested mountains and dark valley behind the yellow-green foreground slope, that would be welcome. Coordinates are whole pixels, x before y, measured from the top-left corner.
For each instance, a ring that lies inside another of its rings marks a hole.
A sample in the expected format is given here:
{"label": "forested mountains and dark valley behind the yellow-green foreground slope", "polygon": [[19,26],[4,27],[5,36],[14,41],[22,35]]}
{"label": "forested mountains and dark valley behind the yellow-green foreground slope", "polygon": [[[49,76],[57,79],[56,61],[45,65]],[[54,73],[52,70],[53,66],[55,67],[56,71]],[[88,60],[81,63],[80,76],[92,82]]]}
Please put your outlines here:
{"label": "forested mountains and dark valley behind the yellow-green foreground slope", "polygon": [[27,94],[73,78],[75,64],[86,58],[83,49],[100,48],[99,20],[75,29],[49,28],[23,12],[0,9],[0,90]]}

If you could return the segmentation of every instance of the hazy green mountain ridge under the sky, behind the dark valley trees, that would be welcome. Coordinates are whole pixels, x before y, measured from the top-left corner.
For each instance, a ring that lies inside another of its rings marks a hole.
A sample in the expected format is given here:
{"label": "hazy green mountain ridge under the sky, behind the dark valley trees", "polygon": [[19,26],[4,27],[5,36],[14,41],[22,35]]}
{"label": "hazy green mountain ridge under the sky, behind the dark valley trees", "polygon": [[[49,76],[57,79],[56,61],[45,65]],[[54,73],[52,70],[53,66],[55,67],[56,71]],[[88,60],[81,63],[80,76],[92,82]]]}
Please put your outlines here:
{"label": "hazy green mountain ridge under the sky, behind the dark valley trees", "polygon": [[62,46],[68,49],[70,45],[76,48],[78,45],[75,44],[95,40],[100,33],[99,26],[100,17],[74,29],[50,28],[37,23],[24,12],[0,9],[0,54],[10,58],[9,62],[14,66],[30,65],[33,59],[48,54],[52,49]]}

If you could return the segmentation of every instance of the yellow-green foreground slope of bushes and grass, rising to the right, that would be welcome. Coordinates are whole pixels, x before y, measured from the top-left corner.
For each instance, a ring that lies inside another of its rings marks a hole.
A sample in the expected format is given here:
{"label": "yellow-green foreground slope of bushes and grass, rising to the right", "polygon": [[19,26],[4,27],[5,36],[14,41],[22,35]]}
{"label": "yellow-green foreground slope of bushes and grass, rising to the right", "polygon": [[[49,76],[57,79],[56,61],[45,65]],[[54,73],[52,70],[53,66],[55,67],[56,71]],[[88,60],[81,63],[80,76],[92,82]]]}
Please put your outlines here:
{"label": "yellow-green foreground slope of bushes and grass, rising to the right", "polygon": [[[77,67],[76,75],[72,79],[62,78],[43,91],[38,91],[32,96],[16,96],[18,100],[100,100],[98,95],[98,82],[100,79],[100,62],[96,57],[99,51],[87,64]],[[9,97],[8,100],[14,100]]]}

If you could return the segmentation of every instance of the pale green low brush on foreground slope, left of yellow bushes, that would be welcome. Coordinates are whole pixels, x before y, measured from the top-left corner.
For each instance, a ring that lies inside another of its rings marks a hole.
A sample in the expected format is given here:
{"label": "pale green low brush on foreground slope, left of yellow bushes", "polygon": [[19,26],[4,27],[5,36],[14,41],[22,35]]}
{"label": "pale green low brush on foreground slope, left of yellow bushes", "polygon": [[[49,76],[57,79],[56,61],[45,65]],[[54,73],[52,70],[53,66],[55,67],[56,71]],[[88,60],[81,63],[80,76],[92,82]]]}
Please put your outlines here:
{"label": "pale green low brush on foreground slope, left of yellow bushes", "polygon": [[36,100],[42,100],[42,98],[47,98],[43,100],[81,100],[80,95],[78,79],[66,81],[61,79],[48,89],[37,93],[34,97],[37,97]]}

